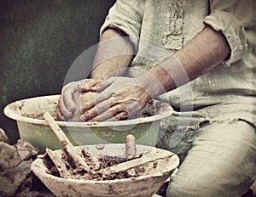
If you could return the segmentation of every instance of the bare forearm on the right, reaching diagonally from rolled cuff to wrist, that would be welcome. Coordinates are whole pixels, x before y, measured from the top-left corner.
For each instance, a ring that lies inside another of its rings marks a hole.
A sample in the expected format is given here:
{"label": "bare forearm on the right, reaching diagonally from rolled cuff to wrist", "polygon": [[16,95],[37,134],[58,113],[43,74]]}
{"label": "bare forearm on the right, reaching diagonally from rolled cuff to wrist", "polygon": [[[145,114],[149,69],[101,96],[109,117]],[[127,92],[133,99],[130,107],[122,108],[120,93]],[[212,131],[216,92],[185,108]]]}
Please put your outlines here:
{"label": "bare forearm on the right, reaching diagonally from rolled cuff to wrist", "polygon": [[[206,26],[196,37],[177,51],[170,59],[148,70],[147,84],[160,84],[163,88],[148,86],[152,96],[170,91],[212,70],[230,54],[224,35]],[[148,77],[150,76],[150,77]],[[154,82],[150,82],[150,81]]]}

